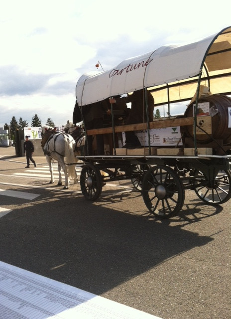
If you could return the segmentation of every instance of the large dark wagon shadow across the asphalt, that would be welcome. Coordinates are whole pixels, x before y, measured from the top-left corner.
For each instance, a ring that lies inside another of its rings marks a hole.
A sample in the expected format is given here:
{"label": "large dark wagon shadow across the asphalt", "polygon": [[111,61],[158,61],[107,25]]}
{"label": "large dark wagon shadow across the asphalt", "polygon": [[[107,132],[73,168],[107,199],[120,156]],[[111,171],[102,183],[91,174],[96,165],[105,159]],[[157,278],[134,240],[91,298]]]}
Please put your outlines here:
{"label": "large dark wagon shadow across the asphalt", "polygon": [[212,240],[76,194],[46,190],[24,203],[1,218],[1,260],[97,295]]}

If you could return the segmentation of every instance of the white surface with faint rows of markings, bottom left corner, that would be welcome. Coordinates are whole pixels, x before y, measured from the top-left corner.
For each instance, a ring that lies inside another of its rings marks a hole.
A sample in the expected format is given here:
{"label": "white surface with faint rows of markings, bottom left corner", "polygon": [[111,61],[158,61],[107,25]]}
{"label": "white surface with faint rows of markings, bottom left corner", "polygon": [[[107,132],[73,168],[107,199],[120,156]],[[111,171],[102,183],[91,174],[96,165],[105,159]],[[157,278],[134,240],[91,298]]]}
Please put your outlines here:
{"label": "white surface with faint rows of markings, bottom left corner", "polygon": [[0,319],[158,319],[0,262]]}

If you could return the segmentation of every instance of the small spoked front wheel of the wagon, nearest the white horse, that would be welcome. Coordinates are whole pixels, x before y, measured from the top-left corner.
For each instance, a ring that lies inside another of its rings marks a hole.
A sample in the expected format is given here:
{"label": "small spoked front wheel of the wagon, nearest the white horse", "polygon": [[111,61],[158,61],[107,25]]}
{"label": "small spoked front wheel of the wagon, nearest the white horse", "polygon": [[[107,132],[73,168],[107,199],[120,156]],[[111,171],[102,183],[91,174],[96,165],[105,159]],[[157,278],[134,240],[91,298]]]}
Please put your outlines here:
{"label": "small spoked front wheel of the wagon, nearest the white horse", "polygon": [[92,164],[85,164],[80,175],[80,187],[87,200],[94,201],[99,198],[103,179],[98,167]]}

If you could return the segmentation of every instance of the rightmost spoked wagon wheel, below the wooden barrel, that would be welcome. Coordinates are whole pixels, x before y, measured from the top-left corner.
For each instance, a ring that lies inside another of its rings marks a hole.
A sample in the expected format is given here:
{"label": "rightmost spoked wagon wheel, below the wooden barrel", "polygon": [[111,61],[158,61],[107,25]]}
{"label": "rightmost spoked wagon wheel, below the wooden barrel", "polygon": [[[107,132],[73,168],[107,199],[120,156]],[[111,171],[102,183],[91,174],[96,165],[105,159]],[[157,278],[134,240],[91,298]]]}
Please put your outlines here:
{"label": "rightmost spoked wagon wheel, below the wooden barrel", "polygon": [[231,198],[231,170],[220,170],[208,178],[202,170],[195,169],[194,176],[195,192],[207,204],[216,206]]}

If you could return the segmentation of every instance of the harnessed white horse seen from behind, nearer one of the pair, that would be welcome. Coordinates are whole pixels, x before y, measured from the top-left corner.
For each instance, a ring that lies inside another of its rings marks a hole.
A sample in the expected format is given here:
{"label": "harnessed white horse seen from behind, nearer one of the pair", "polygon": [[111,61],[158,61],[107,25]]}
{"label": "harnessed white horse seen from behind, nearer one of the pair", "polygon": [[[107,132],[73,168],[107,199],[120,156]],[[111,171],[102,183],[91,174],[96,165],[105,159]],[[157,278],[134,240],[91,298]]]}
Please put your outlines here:
{"label": "harnessed white horse seen from behind, nearer one of the pair", "polygon": [[47,126],[42,127],[42,149],[46,155],[46,160],[49,164],[51,173],[50,183],[54,183],[52,159],[58,162],[59,180],[58,185],[62,185],[61,168],[65,174],[65,186],[64,189],[68,189],[70,184],[70,178],[74,180],[74,183],[78,182],[76,174],[75,164],[77,159],[74,154],[75,140],[71,135],[66,133],[56,133],[56,130]]}

